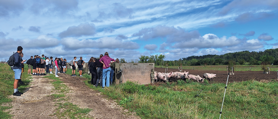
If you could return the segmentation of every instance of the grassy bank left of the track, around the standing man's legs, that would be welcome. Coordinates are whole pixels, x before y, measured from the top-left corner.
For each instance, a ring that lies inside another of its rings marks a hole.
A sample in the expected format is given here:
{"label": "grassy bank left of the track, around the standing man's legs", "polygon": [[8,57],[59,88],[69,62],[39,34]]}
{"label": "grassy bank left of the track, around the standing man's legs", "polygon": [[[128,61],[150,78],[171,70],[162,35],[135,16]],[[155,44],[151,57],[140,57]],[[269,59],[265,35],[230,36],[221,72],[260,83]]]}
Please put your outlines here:
{"label": "grassy bank left of the track, around the standing man's legs", "polygon": [[[32,77],[28,73],[28,66],[25,64],[24,72],[22,73],[22,81],[29,83],[31,82]],[[12,99],[7,98],[8,95],[12,95],[14,93],[13,84],[14,84],[14,72],[11,70],[11,67],[8,64],[0,64],[0,118],[11,118],[12,115],[9,115],[9,112],[5,112],[4,110],[12,108],[11,106],[3,106],[3,104],[11,102]],[[19,91],[23,92],[28,84],[19,85]]]}

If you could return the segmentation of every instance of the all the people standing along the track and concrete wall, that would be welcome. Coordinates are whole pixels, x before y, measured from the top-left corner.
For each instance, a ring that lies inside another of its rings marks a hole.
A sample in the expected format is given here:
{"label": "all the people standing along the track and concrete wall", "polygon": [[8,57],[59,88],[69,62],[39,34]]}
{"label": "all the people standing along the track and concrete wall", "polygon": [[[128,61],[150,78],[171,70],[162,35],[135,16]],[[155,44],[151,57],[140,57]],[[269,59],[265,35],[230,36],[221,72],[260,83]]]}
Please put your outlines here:
{"label": "all the people standing along the track and concrete wall", "polygon": [[[28,60],[23,60],[23,48],[18,46],[17,52],[14,53],[11,57],[13,59],[13,63],[11,68],[14,71],[14,96],[21,96],[21,92],[18,91],[19,84],[24,84],[21,81],[21,75],[24,72],[24,62],[28,64],[28,74],[36,75],[36,76],[44,76],[46,74],[54,74],[52,73],[53,67],[55,68],[55,76],[58,76],[58,73],[66,73],[67,71],[67,60],[63,58],[55,58],[46,57],[44,55],[34,55],[30,57]],[[10,59],[11,59],[10,57]],[[9,61],[8,61],[9,62]],[[80,60],[76,61],[76,57],[69,62],[69,65],[72,66],[72,75],[75,75],[76,65],[78,66],[79,75],[82,76],[83,64],[85,62],[80,57]],[[91,84],[94,86],[102,86],[102,88],[109,87],[113,83],[113,76],[115,74],[115,63],[120,63],[119,59],[112,59],[109,57],[108,52],[105,52],[100,55],[100,58],[91,57],[88,62],[88,68],[92,75]],[[33,70],[32,70],[33,69]],[[31,73],[32,71],[32,73]]]}

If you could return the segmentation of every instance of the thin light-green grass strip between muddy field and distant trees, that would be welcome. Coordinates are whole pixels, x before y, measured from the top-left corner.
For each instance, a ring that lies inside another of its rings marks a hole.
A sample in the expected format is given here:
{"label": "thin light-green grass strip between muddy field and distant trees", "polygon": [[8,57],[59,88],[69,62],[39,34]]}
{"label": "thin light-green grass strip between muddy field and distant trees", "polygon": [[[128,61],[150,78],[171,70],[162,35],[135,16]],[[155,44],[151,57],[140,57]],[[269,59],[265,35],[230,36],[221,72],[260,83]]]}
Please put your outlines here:
{"label": "thin light-green grass strip between muddy field and distant trees", "polygon": [[[183,66],[184,70],[202,71],[227,71],[228,65],[206,65],[206,66]],[[166,68],[165,66],[155,66]],[[267,65],[270,71],[277,71],[278,65]],[[178,69],[178,66],[168,66],[168,68]],[[262,71],[261,65],[234,65],[234,71]]]}

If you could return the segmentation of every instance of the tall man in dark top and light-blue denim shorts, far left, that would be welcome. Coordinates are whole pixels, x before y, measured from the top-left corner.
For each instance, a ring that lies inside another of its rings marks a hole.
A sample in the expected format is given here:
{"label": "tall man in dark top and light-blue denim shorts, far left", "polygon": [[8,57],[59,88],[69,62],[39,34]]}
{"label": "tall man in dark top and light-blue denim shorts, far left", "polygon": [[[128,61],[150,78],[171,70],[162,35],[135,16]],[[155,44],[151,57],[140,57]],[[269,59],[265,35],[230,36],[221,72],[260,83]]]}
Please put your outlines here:
{"label": "tall man in dark top and light-blue denim shorts, far left", "polygon": [[14,71],[14,96],[21,96],[21,92],[18,91],[18,82],[21,76],[21,71],[22,71],[22,66],[21,63],[23,61],[20,61],[20,56],[19,54],[22,53],[23,48],[21,46],[18,46],[17,52],[14,54],[13,60],[14,60],[14,66],[13,66],[13,71]]}

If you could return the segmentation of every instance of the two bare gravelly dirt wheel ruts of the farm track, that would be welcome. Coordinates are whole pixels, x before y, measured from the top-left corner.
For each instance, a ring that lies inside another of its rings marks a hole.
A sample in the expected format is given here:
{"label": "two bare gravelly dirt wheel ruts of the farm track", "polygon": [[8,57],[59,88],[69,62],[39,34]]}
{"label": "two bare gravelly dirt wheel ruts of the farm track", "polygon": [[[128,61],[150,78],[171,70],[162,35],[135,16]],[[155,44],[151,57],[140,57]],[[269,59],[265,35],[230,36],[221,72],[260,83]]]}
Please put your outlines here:
{"label": "two bare gravelly dirt wheel ruts of the farm track", "polygon": [[[78,105],[80,108],[92,109],[88,117],[97,119],[136,119],[139,118],[135,113],[129,113],[123,110],[113,100],[101,95],[99,92],[88,88],[85,85],[85,78],[71,77],[66,74],[58,74],[61,81],[70,89],[66,96],[68,102]],[[30,118],[57,118],[54,114],[57,102],[53,101],[51,95],[51,79],[42,78],[43,76],[34,76],[21,96],[10,96],[13,101],[10,103],[13,108],[7,110],[14,115],[12,118],[30,119]]]}

